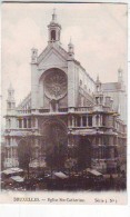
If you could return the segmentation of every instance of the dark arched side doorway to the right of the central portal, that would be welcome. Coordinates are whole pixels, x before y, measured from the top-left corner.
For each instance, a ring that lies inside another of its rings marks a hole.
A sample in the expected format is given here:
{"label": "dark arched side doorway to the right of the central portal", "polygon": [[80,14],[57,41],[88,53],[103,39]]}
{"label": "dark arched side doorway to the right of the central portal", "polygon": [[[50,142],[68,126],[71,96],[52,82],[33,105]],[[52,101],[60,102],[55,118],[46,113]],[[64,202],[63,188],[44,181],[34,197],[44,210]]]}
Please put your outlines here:
{"label": "dark arched side doorway to the right of the central portal", "polygon": [[91,167],[91,142],[86,136],[81,136],[78,147],[78,167],[86,169]]}

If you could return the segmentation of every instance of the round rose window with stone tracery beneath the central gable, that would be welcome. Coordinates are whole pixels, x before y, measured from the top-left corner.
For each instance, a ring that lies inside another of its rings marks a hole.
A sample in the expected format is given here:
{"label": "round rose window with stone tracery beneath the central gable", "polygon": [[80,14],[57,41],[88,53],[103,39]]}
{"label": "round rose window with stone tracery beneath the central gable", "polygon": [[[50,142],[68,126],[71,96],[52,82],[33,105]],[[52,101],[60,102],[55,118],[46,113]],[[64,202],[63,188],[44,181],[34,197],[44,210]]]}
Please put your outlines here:
{"label": "round rose window with stone tracery beneath the central gable", "polygon": [[53,69],[52,72],[46,76],[44,92],[49,99],[59,100],[67,95],[67,76]]}

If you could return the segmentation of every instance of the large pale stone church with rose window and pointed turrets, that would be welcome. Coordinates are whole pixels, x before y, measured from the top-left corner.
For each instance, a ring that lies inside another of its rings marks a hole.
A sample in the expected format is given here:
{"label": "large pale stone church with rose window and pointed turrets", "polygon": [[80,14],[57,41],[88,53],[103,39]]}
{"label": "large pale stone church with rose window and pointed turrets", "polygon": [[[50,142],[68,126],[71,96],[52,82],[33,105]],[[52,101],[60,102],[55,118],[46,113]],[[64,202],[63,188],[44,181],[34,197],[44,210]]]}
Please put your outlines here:
{"label": "large pale stone church with rose window and pointed turrets", "polygon": [[[68,50],[61,47],[56,12],[48,31],[46,49],[40,55],[36,48],[31,51],[31,92],[16,106],[14,90],[12,86],[8,89],[4,167],[20,167],[19,152],[27,158],[27,149],[33,161],[30,166],[43,166],[48,149],[53,152],[62,147],[64,167],[104,174],[124,169],[127,92],[122,69],[117,70],[117,82],[93,80],[74,59],[72,42]],[[72,164],[67,164],[69,160]]]}

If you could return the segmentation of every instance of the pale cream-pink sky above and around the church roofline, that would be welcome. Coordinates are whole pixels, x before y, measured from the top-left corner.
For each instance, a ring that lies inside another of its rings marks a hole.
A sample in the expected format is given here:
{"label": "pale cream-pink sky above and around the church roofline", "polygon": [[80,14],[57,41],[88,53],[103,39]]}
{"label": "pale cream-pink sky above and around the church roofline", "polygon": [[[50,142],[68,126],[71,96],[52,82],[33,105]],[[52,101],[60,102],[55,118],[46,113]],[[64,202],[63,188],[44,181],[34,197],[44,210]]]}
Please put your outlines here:
{"label": "pale cream-pink sky above and around the church roofline", "polygon": [[[7,89],[14,88],[17,105],[31,90],[31,48],[39,55],[48,45],[53,8],[61,24],[61,43],[74,45],[74,57],[101,82],[116,82],[123,69],[127,82],[127,6],[117,3],[3,3],[2,4],[2,108]],[[3,111],[4,112],[4,111]]]}

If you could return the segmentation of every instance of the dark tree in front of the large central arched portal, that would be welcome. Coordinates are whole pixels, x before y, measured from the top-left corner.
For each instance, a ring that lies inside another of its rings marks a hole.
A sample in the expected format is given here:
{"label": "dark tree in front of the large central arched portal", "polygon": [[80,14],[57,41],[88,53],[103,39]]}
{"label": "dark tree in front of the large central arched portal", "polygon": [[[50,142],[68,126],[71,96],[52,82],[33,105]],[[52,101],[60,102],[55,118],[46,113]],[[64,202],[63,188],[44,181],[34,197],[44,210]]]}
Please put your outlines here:
{"label": "dark tree in front of the large central arched portal", "polygon": [[67,131],[62,125],[51,122],[44,127],[46,138],[46,161],[52,169],[62,169],[67,155]]}

